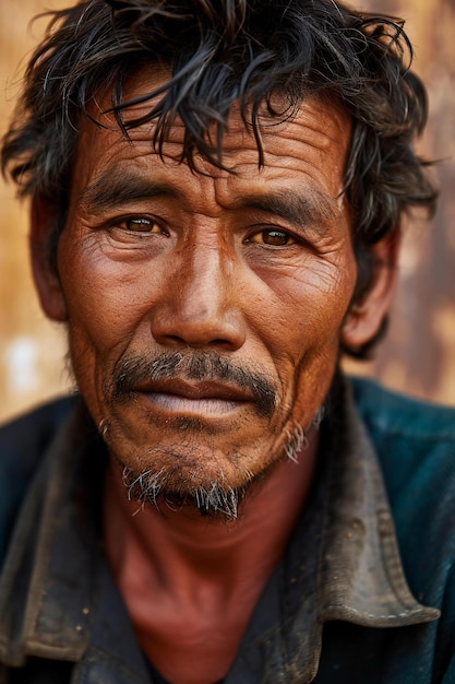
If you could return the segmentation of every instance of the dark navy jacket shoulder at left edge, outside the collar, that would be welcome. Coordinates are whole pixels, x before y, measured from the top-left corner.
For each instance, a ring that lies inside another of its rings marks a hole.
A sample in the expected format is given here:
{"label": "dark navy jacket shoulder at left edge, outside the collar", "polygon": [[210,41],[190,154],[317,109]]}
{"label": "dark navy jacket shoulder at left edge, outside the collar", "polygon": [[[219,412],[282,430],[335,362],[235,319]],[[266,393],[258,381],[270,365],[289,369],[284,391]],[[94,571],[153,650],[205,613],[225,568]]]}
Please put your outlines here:
{"label": "dark navy jacket shoulder at left edge, outside the collar", "polygon": [[0,427],[0,565],[35,471],[76,401],[75,397],[59,399]]}

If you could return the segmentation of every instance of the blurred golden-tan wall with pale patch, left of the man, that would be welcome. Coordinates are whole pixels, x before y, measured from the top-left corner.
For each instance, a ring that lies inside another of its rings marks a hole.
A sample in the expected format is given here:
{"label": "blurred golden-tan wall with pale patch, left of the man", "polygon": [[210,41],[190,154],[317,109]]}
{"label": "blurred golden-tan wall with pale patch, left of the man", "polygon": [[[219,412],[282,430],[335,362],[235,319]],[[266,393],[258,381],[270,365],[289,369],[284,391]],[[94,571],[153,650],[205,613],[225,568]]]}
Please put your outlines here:
{"label": "blurred golden-tan wall with pale patch, left of the man", "polygon": [[[0,0],[0,130],[17,94],[25,56],[46,22],[31,17],[65,2]],[[22,64],[20,61],[22,60]],[[67,385],[62,332],[41,314],[27,256],[27,207],[0,182],[0,420],[53,396]]]}

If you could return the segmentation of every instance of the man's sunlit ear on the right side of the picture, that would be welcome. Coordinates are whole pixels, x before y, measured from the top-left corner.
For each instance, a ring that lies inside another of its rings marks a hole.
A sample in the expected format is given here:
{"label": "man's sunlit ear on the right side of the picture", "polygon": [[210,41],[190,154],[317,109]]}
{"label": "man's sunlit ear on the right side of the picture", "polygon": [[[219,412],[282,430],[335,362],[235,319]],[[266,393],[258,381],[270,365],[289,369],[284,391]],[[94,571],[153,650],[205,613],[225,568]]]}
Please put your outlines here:
{"label": "man's sunlit ear on the right side of the picture", "polygon": [[394,233],[372,245],[371,283],[363,296],[355,302],[342,328],[345,349],[360,349],[379,332],[388,314],[398,279],[399,234]]}

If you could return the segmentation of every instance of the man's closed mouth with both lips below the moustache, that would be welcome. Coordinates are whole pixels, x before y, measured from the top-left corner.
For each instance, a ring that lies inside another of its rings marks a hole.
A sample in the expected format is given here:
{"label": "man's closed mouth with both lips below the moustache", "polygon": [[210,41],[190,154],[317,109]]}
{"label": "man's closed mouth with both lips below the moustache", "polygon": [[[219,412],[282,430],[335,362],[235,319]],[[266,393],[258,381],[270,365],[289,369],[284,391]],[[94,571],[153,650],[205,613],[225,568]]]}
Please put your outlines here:
{"label": "man's closed mouth with both lips below the moustache", "polygon": [[223,417],[231,414],[254,398],[246,390],[220,382],[189,382],[181,379],[149,381],[140,385],[135,392],[155,409],[169,415],[195,417]]}

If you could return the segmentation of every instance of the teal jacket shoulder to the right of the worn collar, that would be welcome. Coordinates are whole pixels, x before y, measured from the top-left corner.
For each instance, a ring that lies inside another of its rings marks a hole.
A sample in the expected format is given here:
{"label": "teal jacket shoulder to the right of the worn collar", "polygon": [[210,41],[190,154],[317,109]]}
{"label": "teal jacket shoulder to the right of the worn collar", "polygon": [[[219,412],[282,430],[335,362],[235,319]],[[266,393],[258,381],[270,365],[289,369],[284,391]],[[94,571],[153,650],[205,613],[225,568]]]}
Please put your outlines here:
{"label": "teal jacket shoulder to the right of the worn collar", "polygon": [[[384,475],[410,587],[441,608],[455,569],[455,409],[368,380],[352,380],[352,389]],[[453,603],[455,614],[455,597]]]}

